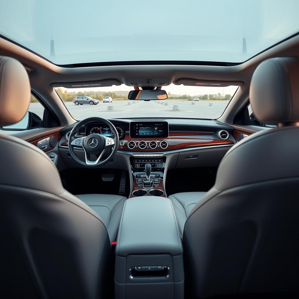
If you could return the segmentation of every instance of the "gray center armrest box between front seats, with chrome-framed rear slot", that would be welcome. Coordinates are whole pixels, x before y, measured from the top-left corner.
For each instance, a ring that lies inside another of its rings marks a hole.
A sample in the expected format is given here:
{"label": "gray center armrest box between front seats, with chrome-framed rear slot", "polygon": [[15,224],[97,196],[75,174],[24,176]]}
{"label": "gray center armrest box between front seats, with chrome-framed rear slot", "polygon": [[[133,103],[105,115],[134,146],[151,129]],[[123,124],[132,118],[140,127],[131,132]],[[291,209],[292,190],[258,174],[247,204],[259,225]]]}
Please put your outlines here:
{"label": "gray center armrest box between front seats, with chrome-framed rear slot", "polygon": [[126,200],[115,253],[115,298],[184,298],[183,249],[170,199]]}

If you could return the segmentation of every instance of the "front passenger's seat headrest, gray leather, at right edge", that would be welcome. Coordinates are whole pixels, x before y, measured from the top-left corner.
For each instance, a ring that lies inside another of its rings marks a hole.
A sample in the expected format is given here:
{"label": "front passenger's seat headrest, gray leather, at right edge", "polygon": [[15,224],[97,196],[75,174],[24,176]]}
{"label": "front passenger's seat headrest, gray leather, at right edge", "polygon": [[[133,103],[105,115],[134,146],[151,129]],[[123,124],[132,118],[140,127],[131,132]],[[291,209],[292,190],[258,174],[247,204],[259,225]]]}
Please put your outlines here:
{"label": "front passenger's seat headrest, gray leather, at right edge", "polygon": [[249,91],[255,117],[264,124],[299,121],[299,59],[277,57],[255,69]]}

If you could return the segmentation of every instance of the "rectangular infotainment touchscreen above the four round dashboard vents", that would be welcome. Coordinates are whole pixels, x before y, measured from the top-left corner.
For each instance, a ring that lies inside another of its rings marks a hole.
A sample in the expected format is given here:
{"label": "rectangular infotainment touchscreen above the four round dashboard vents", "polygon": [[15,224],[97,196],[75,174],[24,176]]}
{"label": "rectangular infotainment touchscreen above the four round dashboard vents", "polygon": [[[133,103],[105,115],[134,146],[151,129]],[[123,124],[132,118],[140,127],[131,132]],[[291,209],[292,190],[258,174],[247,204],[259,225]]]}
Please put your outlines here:
{"label": "rectangular infotainment touchscreen above the four round dashboard vents", "polygon": [[167,121],[131,121],[131,138],[166,138],[168,137]]}

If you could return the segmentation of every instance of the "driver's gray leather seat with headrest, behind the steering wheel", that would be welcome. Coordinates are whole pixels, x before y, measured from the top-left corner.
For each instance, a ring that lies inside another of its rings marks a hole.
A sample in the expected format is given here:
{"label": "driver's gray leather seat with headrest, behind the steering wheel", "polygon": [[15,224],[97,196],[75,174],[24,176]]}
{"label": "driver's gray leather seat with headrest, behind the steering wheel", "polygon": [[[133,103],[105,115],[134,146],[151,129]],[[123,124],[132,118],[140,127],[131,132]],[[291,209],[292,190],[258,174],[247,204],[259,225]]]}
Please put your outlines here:
{"label": "driver's gray leather seat with headrest, behind the steering wheel", "polygon": [[[24,117],[30,92],[22,64],[0,57],[0,126]],[[0,165],[2,297],[107,298],[107,219],[62,187],[57,168],[36,146],[0,135]]]}

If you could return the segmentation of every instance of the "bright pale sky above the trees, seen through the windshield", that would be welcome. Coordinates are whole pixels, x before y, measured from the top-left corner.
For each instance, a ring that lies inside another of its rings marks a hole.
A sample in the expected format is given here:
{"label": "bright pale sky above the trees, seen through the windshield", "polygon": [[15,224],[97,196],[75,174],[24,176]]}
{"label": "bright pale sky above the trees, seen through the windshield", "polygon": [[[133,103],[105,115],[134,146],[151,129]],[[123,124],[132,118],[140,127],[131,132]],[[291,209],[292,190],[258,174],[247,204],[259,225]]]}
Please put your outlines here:
{"label": "bright pale sky above the trees, seen through the windshield", "polygon": [[[237,90],[238,86],[228,86],[228,87],[207,87],[207,86],[184,86],[184,85],[174,85],[170,84],[169,86],[164,86],[164,90],[168,93],[169,91],[172,94],[189,94],[191,96],[198,95],[198,94],[217,94],[220,92],[221,94],[231,94],[233,95]],[[63,88],[65,90],[66,88]],[[118,90],[126,90],[131,91],[133,90],[132,87],[126,86],[124,84],[120,86],[109,86],[109,87],[93,87],[93,88],[74,88],[74,89],[67,89],[68,91],[118,91]]]}

